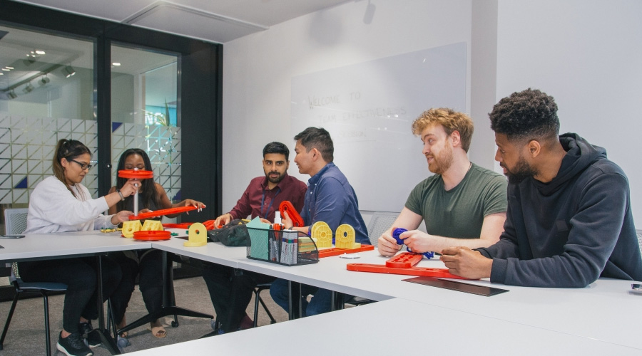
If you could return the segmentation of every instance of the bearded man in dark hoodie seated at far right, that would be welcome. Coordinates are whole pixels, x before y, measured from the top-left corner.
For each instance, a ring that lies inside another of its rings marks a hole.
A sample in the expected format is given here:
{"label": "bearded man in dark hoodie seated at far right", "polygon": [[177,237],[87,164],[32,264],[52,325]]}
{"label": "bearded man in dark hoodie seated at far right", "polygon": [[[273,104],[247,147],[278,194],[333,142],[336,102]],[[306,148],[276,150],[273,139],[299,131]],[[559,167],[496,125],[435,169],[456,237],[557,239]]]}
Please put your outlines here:
{"label": "bearded man in dark hoodie seated at far right", "polygon": [[477,251],[444,249],[450,272],[534,287],[642,281],[628,179],[606,150],[558,136],[557,105],[539,90],[501,99],[489,116],[495,159],[509,178],[504,233]]}

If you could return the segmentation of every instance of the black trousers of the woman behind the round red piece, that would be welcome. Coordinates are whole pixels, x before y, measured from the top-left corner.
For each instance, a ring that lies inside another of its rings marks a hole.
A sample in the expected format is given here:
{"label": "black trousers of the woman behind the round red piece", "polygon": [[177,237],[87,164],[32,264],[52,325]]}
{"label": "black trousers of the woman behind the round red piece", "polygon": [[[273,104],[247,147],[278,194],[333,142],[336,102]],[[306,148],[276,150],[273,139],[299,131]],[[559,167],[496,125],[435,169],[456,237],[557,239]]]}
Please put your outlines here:
{"label": "black trousers of the woman behind the round red piece", "polygon": [[121,282],[123,289],[111,298],[113,318],[116,320],[116,324],[120,324],[125,316],[138,275],[140,275],[138,288],[141,288],[147,311],[153,313],[163,307],[163,268],[165,268],[163,266],[163,251],[149,249],[132,252],[136,253],[138,261],[127,257],[121,251],[109,254],[109,257],[116,261],[123,271]]}

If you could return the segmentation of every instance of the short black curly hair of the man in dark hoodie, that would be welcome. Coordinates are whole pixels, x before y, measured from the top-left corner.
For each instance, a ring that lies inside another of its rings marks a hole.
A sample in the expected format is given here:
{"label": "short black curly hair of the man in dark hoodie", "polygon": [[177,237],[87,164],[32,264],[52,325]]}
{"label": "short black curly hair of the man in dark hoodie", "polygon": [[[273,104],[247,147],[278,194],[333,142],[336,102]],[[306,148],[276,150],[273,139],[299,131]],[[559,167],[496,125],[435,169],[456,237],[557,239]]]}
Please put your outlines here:
{"label": "short black curly hair of the man in dark hoodie", "polygon": [[491,129],[509,140],[552,139],[559,135],[557,104],[552,96],[528,88],[499,100],[489,114]]}

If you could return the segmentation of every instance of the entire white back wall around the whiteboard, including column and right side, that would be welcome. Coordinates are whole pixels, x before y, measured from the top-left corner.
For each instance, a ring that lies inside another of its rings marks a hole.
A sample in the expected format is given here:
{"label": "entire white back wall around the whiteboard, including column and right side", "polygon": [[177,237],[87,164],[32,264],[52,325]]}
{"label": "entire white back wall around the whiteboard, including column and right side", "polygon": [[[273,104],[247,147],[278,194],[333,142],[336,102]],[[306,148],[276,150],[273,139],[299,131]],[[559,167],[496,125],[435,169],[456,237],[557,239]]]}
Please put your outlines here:
{"label": "entire white back wall around the whiteboard, including column and right side", "polygon": [[[633,158],[642,127],[642,1],[370,3],[376,6],[370,24],[363,21],[368,2],[350,1],[225,43],[225,211],[252,177],[263,174],[265,143],[277,140],[293,147],[293,75],[465,41],[471,88],[467,111],[475,122],[472,160],[493,165],[494,135],[486,115],[492,105],[514,91],[539,88],[556,98],[562,132],[578,132],[606,147],[608,157],[628,174],[633,214],[642,224],[642,188],[636,186],[642,169]],[[289,172],[306,180],[290,161]]]}

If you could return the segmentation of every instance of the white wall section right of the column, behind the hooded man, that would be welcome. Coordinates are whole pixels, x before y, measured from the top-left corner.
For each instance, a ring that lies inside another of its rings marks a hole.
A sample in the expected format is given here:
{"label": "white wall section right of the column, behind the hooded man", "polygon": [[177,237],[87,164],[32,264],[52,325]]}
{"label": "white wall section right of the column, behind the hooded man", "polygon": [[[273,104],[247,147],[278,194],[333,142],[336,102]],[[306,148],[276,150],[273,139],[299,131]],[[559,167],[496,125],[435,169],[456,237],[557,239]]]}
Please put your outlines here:
{"label": "white wall section right of the column, behind the hooded man", "polygon": [[553,95],[561,132],[606,148],[628,175],[642,224],[642,1],[499,0],[497,100]]}

